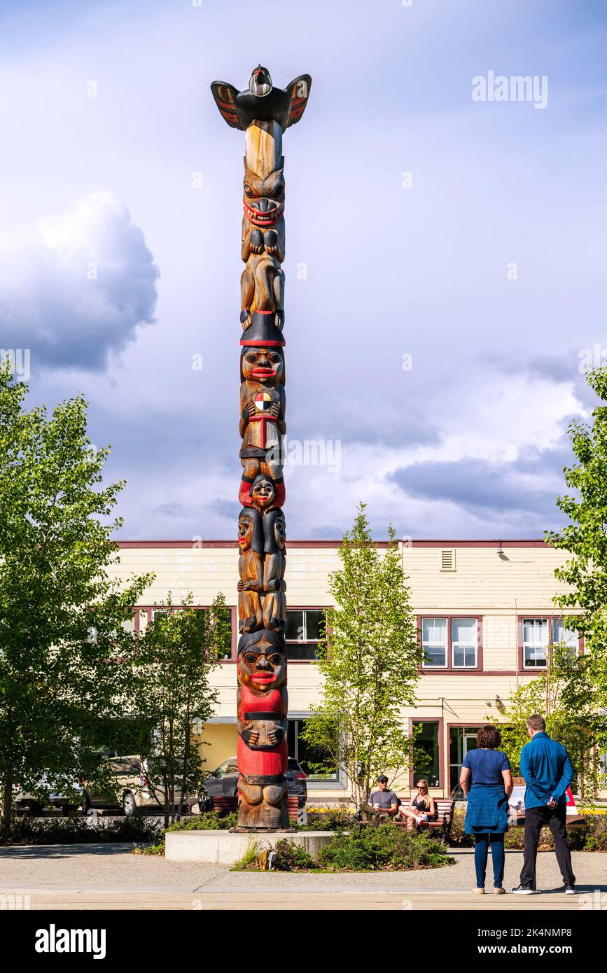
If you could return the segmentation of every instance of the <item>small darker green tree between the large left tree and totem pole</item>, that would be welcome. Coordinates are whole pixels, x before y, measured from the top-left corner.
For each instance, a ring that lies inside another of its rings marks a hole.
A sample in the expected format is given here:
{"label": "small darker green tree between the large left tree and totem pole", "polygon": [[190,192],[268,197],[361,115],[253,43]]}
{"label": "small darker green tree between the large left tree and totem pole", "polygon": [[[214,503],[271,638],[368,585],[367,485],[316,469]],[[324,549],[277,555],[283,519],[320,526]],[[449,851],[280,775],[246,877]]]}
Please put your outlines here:
{"label": "small darker green tree between the large left tree and totem pole", "polygon": [[192,593],[174,608],[169,592],[140,638],[138,708],[154,728],[149,750],[142,756],[149,758],[147,783],[165,827],[175,820],[176,808],[181,816],[185,798],[196,796],[202,783],[202,728],[218,698],[210,676],[231,643],[224,596],[218,595],[209,608],[195,608]]}

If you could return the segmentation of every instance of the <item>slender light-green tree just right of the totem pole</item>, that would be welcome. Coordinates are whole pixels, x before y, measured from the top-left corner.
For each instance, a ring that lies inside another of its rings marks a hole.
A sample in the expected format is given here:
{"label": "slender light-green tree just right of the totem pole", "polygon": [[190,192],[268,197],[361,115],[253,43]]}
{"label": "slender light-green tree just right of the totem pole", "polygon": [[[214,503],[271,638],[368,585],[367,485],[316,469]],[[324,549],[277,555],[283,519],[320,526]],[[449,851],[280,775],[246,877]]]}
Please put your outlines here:
{"label": "slender light-green tree just right of the totem pole", "polygon": [[423,653],[392,526],[388,537],[380,551],[361,504],[329,576],[335,607],[318,647],[322,696],[302,734],[326,755],[319,770],[343,769],[357,808],[379,773],[396,777],[412,759],[402,707],[415,701]]}

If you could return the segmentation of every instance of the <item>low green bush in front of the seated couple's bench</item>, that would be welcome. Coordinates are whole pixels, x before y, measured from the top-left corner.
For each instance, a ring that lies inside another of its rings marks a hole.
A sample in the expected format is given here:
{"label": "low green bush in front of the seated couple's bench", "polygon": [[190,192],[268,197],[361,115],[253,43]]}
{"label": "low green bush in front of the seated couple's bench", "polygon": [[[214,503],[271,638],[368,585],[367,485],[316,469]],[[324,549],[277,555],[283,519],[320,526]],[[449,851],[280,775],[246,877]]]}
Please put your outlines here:
{"label": "low green bush in front of the seated couple's bench", "polygon": [[445,847],[429,835],[414,834],[394,824],[355,826],[323,847],[318,864],[331,871],[403,871],[454,864]]}

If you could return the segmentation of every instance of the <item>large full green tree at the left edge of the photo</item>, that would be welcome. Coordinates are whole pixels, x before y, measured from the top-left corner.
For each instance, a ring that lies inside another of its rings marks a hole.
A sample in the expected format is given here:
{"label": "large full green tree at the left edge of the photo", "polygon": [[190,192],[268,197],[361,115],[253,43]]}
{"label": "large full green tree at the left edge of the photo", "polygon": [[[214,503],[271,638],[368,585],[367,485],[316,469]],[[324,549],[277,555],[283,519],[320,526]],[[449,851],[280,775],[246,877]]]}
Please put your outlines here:
{"label": "large full green tree at the left edge of the photo", "polygon": [[[5,824],[14,786],[44,793],[94,779],[97,731],[132,698],[127,623],[151,576],[112,577],[122,482],[102,486],[81,396],[27,410],[26,386],[0,370],[0,778]],[[131,714],[132,715],[132,714]]]}

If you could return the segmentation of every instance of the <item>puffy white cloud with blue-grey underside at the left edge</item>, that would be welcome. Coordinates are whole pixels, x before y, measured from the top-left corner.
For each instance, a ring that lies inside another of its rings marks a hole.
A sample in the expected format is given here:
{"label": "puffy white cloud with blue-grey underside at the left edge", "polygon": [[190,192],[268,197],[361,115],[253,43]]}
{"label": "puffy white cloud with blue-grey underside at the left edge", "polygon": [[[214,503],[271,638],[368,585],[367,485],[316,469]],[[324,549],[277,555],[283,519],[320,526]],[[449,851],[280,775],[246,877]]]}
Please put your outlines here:
{"label": "puffy white cloud with blue-grey underside at the left edge", "polygon": [[31,367],[103,371],[154,323],[160,271],[125,206],[91,193],[72,209],[0,234],[0,327]]}

